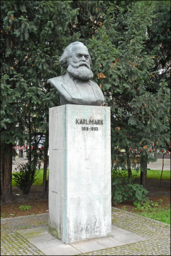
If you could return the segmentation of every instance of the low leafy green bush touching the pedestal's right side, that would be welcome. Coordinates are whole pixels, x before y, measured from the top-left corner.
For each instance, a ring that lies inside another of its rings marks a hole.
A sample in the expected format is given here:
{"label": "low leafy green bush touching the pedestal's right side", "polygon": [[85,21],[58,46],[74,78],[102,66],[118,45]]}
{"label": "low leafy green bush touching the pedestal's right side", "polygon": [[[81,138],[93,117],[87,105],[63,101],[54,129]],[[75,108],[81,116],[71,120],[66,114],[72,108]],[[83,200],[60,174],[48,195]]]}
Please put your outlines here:
{"label": "low leafy green bush touching the pedestal's right side", "polygon": [[132,200],[133,202],[147,201],[146,194],[148,191],[142,185],[134,184],[133,178],[128,180],[127,177],[122,175],[122,171],[112,170],[112,202],[119,204],[126,200]]}

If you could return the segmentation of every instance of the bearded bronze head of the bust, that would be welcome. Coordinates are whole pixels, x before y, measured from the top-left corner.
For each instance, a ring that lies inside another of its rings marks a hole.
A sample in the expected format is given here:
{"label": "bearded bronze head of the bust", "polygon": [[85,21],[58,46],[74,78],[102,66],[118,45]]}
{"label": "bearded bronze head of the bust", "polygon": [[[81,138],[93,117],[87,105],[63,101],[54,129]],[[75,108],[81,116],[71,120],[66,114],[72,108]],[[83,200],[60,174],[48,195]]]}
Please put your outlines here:
{"label": "bearded bronze head of the bust", "polygon": [[86,46],[81,42],[74,42],[67,46],[60,57],[60,65],[67,68],[69,74],[82,80],[93,78],[91,58]]}

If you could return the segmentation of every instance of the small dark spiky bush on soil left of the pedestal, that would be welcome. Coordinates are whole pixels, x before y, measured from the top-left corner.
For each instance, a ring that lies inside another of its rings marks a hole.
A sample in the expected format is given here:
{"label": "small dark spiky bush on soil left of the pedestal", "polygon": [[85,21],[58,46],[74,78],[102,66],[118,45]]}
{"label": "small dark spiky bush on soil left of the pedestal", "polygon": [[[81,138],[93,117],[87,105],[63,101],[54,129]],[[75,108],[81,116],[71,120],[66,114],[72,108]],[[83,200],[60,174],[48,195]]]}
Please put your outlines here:
{"label": "small dark spiky bush on soil left of the pedestal", "polygon": [[[31,170],[29,184],[32,185],[37,179],[35,178],[36,175],[39,173],[39,170]],[[17,188],[20,188],[23,193],[26,193],[26,188],[28,187],[28,177],[29,177],[29,170],[28,170],[28,163],[20,164],[12,175],[12,179],[16,182]],[[30,186],[31,187],[31,186]]]}

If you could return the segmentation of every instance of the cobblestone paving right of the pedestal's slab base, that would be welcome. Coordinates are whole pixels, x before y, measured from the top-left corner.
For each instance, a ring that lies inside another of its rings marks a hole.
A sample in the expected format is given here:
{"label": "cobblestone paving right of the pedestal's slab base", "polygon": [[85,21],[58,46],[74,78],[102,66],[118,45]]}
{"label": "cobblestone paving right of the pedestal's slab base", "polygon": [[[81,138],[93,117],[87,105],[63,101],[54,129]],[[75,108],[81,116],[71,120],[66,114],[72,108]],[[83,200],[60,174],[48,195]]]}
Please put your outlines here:
{"label": "cobblestone paving right of the pedestal's slab base", "polygon": [[113,225],[148,240],[80,255],[170,255],[170,225],[112,208]]}

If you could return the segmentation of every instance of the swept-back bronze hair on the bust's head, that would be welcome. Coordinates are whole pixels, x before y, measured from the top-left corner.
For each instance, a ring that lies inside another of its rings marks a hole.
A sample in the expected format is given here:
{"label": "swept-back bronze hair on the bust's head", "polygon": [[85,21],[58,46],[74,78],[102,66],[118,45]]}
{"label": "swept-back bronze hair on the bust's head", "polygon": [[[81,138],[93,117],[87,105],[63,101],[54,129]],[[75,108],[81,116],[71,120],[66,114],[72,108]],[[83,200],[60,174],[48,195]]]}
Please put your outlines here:
{"label": "swept-back bronze hair on the bust's head", "polygon": [[[74,45],[83,45],[83,43],[81,42],[74,42],[74,43],[71,43],[69,46],[67,46],[62,54],[62,56],[60,57],[59,59],[59,62],[60,62],[60,65],[63,67],[63,68],[67,68],[68,67],[68,60],[69,58],[72,56],[72,47]],[[90,64],[92,64],[92,60],[90,58],[90,55],[89,55],[89,61],[90,61]]]}

